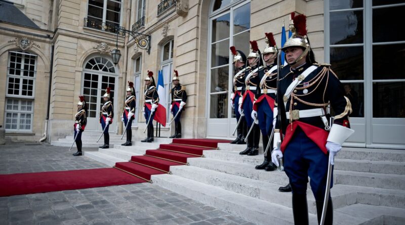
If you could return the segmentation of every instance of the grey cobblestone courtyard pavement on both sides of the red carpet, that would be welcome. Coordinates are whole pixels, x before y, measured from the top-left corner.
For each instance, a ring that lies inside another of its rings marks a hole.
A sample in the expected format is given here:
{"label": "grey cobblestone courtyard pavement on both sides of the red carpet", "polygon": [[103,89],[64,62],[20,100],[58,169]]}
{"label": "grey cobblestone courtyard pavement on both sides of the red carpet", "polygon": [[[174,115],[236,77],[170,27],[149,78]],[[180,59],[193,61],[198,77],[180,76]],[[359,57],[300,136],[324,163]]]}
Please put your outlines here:
{"label": "grey cobblestone courtyard pavement on both sides of the red carpet", "polygon": [[[0,173],[101,168],[66,147],[0,146]],[[0,198],[0,224],[253,224],[154,184]]]}

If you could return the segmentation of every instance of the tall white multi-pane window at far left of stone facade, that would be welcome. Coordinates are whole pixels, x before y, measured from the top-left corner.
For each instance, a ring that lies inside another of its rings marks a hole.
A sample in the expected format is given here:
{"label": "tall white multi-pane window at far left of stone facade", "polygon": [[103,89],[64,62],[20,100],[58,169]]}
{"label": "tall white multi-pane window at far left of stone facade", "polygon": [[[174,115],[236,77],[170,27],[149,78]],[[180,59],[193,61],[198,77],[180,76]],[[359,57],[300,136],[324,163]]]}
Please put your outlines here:
{"label": "tall white multi-pane window at far left of stone facade", "polygon": [[5,126],[7,130],[32,130],[36,55],[9,52]]}

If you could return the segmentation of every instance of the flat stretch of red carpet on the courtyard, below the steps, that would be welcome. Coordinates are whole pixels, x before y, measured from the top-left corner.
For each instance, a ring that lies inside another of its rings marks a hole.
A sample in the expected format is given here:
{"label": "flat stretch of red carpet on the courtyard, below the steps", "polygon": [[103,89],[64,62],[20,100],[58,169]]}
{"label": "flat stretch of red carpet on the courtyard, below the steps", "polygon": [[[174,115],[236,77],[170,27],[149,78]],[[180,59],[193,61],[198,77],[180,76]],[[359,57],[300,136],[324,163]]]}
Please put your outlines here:
{"label": "flat stretch of red carpet on the courtyard, below the steps", "polygon": [[0,175],[0,196],[143,183],[143,179],[114,168],[79,169]]}

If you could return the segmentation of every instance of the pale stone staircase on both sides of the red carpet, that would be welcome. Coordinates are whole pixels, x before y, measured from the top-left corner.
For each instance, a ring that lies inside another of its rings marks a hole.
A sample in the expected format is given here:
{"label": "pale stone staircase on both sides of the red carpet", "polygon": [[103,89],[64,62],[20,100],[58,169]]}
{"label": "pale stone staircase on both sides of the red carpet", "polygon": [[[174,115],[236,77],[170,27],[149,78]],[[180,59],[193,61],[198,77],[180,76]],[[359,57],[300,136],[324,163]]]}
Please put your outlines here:
{"label": "pale stone staircase on both sides of the red carpet", "polygon": [[[85,151],[85,156],[114,166],[171,142],[165,138],[155,138],[154,143],[136,141],[131,147],[113,145],[98,152]],[[277,191],[288,184],[286,174],[256,170],[254,166],[263,156],[239,155],[245,146],[219,143],[218,148],[205,150],[204,157],[188,158],[189,165],[170,166],[172,174],[152,175],[150,185],[256,224],[293,224],[291,193]],[[343,148],[335,162],[331,189],[334,224],[405,224],[405,151]],[[316,224],[315,200],[309,186],[307,193],[310,224]]]}

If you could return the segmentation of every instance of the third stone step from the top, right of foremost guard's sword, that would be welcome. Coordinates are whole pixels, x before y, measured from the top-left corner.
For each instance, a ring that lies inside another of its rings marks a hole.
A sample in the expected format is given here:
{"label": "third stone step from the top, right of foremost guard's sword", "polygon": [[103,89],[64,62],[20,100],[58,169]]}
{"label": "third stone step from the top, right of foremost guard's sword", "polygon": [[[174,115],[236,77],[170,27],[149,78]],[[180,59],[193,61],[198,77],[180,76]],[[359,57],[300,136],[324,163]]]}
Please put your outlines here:
{"label": "third stone step from the top, right of foremost guard's sword", "polygon": [[335,184],[405,190],[405,175],[334,170]]}

